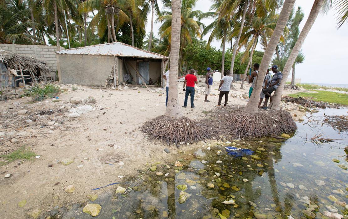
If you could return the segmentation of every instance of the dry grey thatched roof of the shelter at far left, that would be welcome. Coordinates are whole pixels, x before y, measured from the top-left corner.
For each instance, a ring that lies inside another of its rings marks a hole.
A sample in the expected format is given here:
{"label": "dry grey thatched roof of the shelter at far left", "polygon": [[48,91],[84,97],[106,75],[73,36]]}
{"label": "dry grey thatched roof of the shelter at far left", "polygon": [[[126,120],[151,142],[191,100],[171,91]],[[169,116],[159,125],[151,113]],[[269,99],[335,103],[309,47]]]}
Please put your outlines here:
{"label": "dry grey thatched roof of the shelter at far left", "polygon": [[22,70],[29,70],[34,75],[38,74],[38,70],[44,75],[50,75],[53,71],[52,68],[36,58],[21,56],[5,50],[0,50],[0,62],[11,69],[19,70],[21,67]]}

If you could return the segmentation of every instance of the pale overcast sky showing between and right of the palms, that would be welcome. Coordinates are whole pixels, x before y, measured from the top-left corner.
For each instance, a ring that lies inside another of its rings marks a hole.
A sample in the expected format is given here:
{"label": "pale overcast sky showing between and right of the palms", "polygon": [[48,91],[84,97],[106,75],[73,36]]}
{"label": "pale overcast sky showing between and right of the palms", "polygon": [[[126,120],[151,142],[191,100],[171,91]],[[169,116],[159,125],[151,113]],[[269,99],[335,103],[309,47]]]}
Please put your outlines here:
{"label": "pale overcast sky showing between and right of the palms", "polygon": [[[313,2],[314,0],[296,1],[296,8],[300,6],[305,15],[300,28],[303,27],[307,20]],[[209,0],[198,0],[194,10],[207,12],[211,4],[212,2]],[[202,22],[208,25],[212,21],[203,20]],[[156,36],[158,35],[159,26],[159,23],[155,23],[153,26]],[[149,14],[146,27],[147,33],[150,32],[150,27],[151,14]],[[203,39],[207,40],[208,37],[209,35],[206,35]],[[220,48],[220,43],[215,41],[212,45]],[[348,84],[348,70],[343,65],[348,61],[347,48],[348,23],[337,29],[335,12],[333,10],[326,15],[319,14],[302,46],[305,60],[303,64],[296,65],[296,78],[301,78],[302,83]],[[256,49],[261,50],[259,46]]]}

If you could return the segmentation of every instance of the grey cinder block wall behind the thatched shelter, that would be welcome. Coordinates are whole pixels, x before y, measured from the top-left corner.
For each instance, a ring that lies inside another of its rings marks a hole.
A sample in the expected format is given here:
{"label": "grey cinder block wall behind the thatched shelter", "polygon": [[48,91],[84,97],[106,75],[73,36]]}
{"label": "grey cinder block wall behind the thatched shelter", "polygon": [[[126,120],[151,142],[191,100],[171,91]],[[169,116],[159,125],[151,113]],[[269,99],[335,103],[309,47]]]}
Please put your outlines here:
{"label": "grey cinder block wall behind the thatched shelter", "polygon": [[[55,45],[19,45],[0,43],[0,49],[18,53],[23,56],[37,58],[51,67],[52,70],[57,70],[57,57],[55,53],[57,47]],[[64,48],[61,47],[60,50],[64,50]]]}

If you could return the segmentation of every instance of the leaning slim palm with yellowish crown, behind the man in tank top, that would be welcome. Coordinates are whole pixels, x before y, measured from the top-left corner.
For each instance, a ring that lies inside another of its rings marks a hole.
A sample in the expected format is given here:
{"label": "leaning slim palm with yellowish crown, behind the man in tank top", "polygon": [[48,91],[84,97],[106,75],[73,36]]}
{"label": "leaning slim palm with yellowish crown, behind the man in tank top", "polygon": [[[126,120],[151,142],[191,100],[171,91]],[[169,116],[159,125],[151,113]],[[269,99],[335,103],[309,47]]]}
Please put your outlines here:
{"label": "leaning slim palm with yellowish crown, behind the man in tank top", "polygon": [[[274,14],[268,14],[264,17],[256,16],[253,18],[252,22],[244,27],[244,34],[243,37],[240,38],[240,45],[239,48],[242,46],[245,46],[245,52],[242,56],[241,62],[244,62],[246,58],[249,58],[248,64],[246,66],[246,69],[244,71],[244,76],[242,79],[242,84],[240,86],[240,89],[244,89],[244,81],[246,78],[246,73],[249,69],[249,66],[252,65],[252,57],[255,50],[256,45],[258,44],[258,40],[261,40],[261,44],[263,48],[267,47],[267,40],[270,39],[270,37],[273,34],[274,28],[276,27],[276,22],[278,19],[278,15]],[[239,32],[237,29],[235,31],[236,33]],[[285,32],[287,32],[287,28],[285,28]],[[235,33],[235,34],[236,34]],[[280,41],[284,42],[284,36],[282,35],[280,37]],[[250,56],[249,51],[251,49]]]}

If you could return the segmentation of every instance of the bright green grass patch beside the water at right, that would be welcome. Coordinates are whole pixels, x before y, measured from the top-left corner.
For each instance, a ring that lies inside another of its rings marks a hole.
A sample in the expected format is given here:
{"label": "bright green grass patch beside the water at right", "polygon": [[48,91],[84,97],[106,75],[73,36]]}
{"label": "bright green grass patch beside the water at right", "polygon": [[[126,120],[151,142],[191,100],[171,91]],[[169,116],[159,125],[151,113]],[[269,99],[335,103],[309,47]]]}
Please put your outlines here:
{"label": "bright green grass patch beside the water at right", "polygon": [[338,103],[342,105],[348,105],[348,94],[341,94],[341,93],[336,93],[336,92],[331,92],[331,91],[316,91],[316,93],[305,93],[305,92],[299,92],[296,94],[290,94],[289,96],[291,97],[306,97],[310,98],[315,101],[324,101],[328,103]]}

